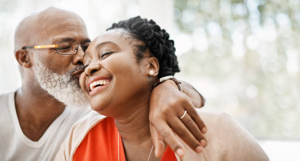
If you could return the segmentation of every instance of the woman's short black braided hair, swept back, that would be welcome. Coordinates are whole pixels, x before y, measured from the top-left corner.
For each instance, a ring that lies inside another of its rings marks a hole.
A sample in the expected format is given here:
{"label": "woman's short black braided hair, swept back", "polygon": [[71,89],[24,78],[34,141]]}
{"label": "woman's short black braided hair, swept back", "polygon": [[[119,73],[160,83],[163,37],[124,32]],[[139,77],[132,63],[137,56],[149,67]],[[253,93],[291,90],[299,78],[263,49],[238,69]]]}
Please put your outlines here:
{"label": "woman's short black braided hair, swept back", "polygon": [[[148,21],[147,19],[142,19],[140,16],[137,16],[125,21],[120,21],[119,23],[113,23],[107,30],[117,28],[129,31],[133,38],[141,40],[149,46],[151,53],[159,62],[160,69],[158,78],[174,75],[175,72],[180,71],[175,55],[174,41],[169,40],[169,33],[164,29],[160,29],[160,26],[153,20]],[[138,61],[143,58],[145,49],[146,48],[140,49],[138,50],[140,52],[135,53]]]}

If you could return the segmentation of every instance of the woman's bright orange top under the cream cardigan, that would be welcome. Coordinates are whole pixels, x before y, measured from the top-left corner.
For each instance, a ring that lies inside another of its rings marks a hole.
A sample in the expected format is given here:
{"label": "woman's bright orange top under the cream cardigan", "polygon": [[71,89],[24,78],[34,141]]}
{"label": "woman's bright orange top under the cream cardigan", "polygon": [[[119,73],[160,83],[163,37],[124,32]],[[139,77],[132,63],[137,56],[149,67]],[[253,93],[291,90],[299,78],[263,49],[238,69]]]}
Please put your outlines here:
{"label": "woman's bright orange top under the cream cardigan", "polygon": [[[73,161],[118,161],[118,137],[120,161],[126,161],[122,138],[111,117],[106,117],[87,133],[76,149]],[[169,146],[160,161],[177,161]]]}

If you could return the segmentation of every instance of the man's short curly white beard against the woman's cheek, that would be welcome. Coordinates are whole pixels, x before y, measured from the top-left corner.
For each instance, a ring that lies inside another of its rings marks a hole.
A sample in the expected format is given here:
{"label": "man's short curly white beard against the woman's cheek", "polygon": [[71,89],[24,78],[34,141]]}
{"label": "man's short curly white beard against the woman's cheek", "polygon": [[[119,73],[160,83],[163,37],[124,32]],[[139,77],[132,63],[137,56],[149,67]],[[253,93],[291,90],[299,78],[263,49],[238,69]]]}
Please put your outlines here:
{"label": "man's short curly white beard against the woman's cheek", "polygon": [[72,73],[78,69],[83,69],[83,66],[78,66],[61,75],[48,69],[38,55],[38,53],[35,54],[35,70],[40,86],[67,106],[87,106],[88,98],[80,89],[78,79],[72,77]]}

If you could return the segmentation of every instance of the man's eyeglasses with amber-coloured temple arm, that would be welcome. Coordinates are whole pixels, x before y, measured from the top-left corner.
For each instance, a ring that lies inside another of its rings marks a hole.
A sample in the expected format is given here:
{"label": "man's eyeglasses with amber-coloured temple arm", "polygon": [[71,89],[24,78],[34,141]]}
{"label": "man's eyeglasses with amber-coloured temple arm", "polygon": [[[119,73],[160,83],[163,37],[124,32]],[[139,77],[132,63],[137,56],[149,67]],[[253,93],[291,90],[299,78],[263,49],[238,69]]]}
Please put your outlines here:
{"label": "man's eyeglasses with amber-coloured temple arm", "polygon": [[78,51],[78,47],[81,46],[82,50],[85,52],[90,43],[85,43],[84,45],[79,45],[76,42],[58,42],[54,45],[45,45],[45,46],[25,46],[22,49],[26,48],[54,48],[56,47],[57,54],[61,55],[74,55]]}

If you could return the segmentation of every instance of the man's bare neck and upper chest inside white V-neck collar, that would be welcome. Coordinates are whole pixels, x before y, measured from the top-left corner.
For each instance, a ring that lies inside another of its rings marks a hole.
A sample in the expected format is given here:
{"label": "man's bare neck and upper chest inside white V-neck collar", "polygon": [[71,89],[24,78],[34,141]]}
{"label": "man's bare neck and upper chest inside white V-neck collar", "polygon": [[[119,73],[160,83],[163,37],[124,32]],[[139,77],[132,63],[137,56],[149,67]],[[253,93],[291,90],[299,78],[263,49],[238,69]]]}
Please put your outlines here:
{"label": "man's bare neck and upper chest inside white V-neck collar", "polygon": [[15,106],[20,127],[32,141],[38,141],[65,109],[63,103],[41,88],[25,87],[15,92]]}

